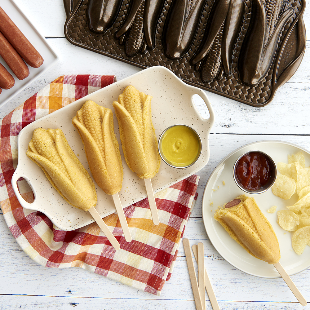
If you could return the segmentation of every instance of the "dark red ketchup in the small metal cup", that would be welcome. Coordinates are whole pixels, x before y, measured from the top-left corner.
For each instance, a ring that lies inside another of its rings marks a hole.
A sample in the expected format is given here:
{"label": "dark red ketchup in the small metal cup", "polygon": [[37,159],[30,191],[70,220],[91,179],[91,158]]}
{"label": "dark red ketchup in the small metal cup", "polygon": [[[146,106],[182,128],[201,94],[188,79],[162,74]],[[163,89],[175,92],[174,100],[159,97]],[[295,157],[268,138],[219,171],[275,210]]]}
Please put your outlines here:
{"label": "dark red ketchup in the small metal cup", "polygon": [[271,164],[263,154],[250,152],[238,160],[235,174],[244,188],[257,190],[268,183]]}

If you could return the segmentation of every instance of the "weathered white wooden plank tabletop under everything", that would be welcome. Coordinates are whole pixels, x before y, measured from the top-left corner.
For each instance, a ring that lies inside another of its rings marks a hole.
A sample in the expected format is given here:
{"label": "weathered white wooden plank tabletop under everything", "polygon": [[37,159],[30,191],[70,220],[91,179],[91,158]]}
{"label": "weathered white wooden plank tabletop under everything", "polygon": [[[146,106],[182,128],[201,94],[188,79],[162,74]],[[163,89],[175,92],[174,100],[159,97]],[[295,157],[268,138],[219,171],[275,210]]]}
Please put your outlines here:
{"label": "weathered white wooden plank tabletop under everything", "polygon": [[[63,74],[115,74],[117,80],[140,69],[87,51],[64,38],[65,12],[62,0],[15,0],[24,14],[47,38],[60,61],[0,109],[0,119]],[[308,0],[308,5],[310,1]],[[310,13],[304,14],[306,28]],[[205,263],[221,309],[302,308],[281,279],[264,279],[240,272],[227,263],[208,240],[201,216],[206,181],[215,166],[234,149],[259,140],[289,141],[310,150],[310,45],[295,75],[263,108],[253,108],[207,92],[215,111],[210,135],[210,161],[201,176],[198,200],[184,237],[191,244],[203,242]],[[199,107],[204,115],[203,106]],[[0,308],[5,309],[195,309],[183,246],[172,277],[160,297],[146,294],[80,268],[48,269],[39,266],[18,246],[0,214]],[[310,258],[309,258],[310,260]],[[310,302],[310,270],[292,276]],[[208,298],[208,297],[207,297]],[[207,300],[206,308],[211,309]]]}

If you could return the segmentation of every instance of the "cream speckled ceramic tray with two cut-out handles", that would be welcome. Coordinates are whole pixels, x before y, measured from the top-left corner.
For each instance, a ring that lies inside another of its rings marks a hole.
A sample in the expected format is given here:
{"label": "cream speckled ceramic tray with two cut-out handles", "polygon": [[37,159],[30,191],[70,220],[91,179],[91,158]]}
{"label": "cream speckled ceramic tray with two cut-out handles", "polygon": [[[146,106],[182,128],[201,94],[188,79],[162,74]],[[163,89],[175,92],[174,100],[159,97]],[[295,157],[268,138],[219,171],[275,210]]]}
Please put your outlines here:
{"label": "cream speckled ceramic tray with two cut-out handles", "polygon": [[[46,214],[60,229],[73,230],[90,224],[94,220],[89,212],[77,209],[69,205],[51,186],[41,168],[32,162],[26,155],[28,144],[32,138],[33,130],[42,128],[60,128],[64,132],[69,145],[74,153],[90,172],[86,160],[84,147],[78,132],[72,125],[72,118],[82,107],[86,100],[93,100],[106,108],[111,108],[114,114],[114,131],[117,136],[123,159],[124,181],[119,192],[122,206],[126,207],[146,197],[144,181],[139,179],[127,166],[123,157],[121,142],[119,139],[118,123],[112,107],[113,100],[117,100],[128,85],[148,95],[152,95],[152,119],[157,139],[164,129],[170,125],[183,123],[192,126],[202,139],[202,152],[198,161],[186,169],[172,168],[161,163],[161,167],[152,179],[154,192],[170,186],[201,170],[208,162],[209,133],[214,123],[214,113],[206,93],[201,89],[189,86],[181,81],[169,69],[161,66],[151,67],[115,82],[99,91],[83,97],[80,100],[61,108],[46,117],[29,124],[18,135],[18,165],[12,177],[12,186],[20,204],[27,209],[38,210]],[[193,102],[193,96],[199,95],[206,103],[209,110],[209,118],[204,119],[198,112]],[[33,190],[35,200],[26,202],[17,188],[17,180],[23,177]],[[113,199],[96,185],[98,202],[96,209],[102,217],[115,212]]]}

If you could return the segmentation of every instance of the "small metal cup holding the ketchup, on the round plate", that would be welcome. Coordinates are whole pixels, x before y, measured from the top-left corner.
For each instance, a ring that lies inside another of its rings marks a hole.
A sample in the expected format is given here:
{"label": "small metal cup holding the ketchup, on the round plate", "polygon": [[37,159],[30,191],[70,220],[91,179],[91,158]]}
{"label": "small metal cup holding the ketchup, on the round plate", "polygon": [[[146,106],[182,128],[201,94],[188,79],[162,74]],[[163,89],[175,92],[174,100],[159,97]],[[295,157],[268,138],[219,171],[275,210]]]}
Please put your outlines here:
{"label": "small metal cup holding the ketchup, on the round plate", "polygon": [[[237,167],[237,163],[239,161],[239,159],[241,157],[243,157],[244,155],[248,154],[248,153],[260,153],[262,154],[264,157],[266,157],[270,163],[270,168],[271,168],[271,174],[270,174],[270,178],[267,184],[265,184],[264,186],[262,186],[261,188],[258,189],[248,189],[242,186],[242,184],[240,184],[239,180],[237,179],[237,175],[236,175],[236,167]],[[261,194],[266,192],[269,188],[272,187],[273,183],[275,182],[276,178],[277,178],[277,166],[275,164],[275,162],[273,161],[273,159],[266,153],[261,152],[261,151],[257,151],[257,150],[252,150],[252,151],[248,151],[243,153],[241,156],[238,157],[238,159],[236,160],[234,166],[233,166],[233,178],[236,182],[236,184],[239,186],[239,188],[241,188],[244,192],[249,193],[249,194]]]}

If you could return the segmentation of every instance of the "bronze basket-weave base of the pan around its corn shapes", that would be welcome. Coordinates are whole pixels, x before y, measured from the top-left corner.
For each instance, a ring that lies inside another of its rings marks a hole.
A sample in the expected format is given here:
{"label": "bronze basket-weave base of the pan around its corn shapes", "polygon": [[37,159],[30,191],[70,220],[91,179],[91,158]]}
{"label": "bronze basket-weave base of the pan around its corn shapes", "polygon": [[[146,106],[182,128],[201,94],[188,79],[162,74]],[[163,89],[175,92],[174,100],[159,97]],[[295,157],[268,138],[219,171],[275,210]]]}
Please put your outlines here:
{"label": "bronze basket-weave base of the pan around its corn shapes", "polygon": [[[88,27],[86,18],[88,0],[64,0],[64,7],[67,13],[64,33],[69,42],[79,47],[122,60],[140,68],[161,65],[170,69],[179,78],[190,85],[212,91],[251,106],[265,106],[272,101],[277,89],[293,76],[303,59],[306,47],[306,32],[303,23],[305,1],[290,0],[286,3],[286,6],[289,7],[292,14],[288,17],[287,22],[284,23],[285,26],[280,33],[277,41],[278,44],[277,42],[275,43],[276,51],[270,69],[256,86],[248,86],[241,82],[238,70],[238,56],[242,43],[246,38],[247,30],[249,29],[250,17],[252,14],[252,2],[250,0],[244,1],[244,18],[236,44],[233,48],[231,74],[218,75],[217,78],[211,82],[202,82],[200,73],[195,71],[194,66],[190,64],[190,60],[203,41],[206,24],[209,20],[209,16],[211,16],[210,12],[212,13],[212,7],[215,1],[216,0],[206,1],[193,44],[189,51],[177,60],[166,57],[162,42],[163,28],[172,0],[166,0],[164,3],[157,24],[154,49],[146,49],[145,52],[140,52],[132,57],[126,55],[124,46],[120,44],[120,41],[115,36],[117,30],[125,20],[129,6],[128,0],[122,2],[122,7],[116,21],[103,35],[90,31]],[[144,5],[144,2],[142,3]],[[248,65],[250,63],[251,61],[247,62]],[[247,70],[248,68],[246,67],[245,69]]]}

